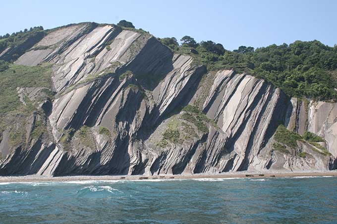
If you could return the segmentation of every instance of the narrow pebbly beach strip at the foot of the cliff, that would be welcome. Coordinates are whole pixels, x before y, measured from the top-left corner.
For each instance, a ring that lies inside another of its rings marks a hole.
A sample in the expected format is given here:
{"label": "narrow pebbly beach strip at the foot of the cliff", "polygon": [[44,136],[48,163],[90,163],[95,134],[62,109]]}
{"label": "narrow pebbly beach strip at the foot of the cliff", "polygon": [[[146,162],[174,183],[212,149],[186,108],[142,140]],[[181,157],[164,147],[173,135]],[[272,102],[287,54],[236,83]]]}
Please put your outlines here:
{"label": "narrow pebbly beach strip at the foot of the cliff", "polygon": [[155,179],[229,179],[229,178],[294,178],[294,177],[337,177],[337,170],[326,172],[230,172],[221,174],[194,174],[194,175],[120,175],[120,176],[64,176],[46,177],[38,175],[29,176],[3,176],[0,183],[20,183],[20,182],[63,182],[63,181],[105,181],[105,180],[155,180]]}

